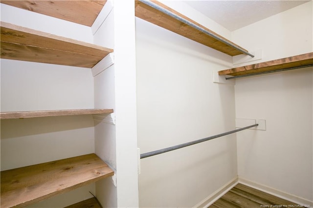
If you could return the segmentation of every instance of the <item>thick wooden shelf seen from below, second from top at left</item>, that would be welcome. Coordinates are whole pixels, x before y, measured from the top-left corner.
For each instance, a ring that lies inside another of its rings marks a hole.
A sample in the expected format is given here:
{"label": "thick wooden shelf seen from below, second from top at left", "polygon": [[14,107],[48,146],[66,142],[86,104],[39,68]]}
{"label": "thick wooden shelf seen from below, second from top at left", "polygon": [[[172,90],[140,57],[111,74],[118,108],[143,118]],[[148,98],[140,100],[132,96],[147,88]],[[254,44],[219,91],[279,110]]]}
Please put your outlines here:
{"label": "thick wooden shelf seen from below, second from top at left", "polygon": [[[1,1],[2,2],[2,1]],[[110,48],[1,22],[1,58],[92,68]]]}

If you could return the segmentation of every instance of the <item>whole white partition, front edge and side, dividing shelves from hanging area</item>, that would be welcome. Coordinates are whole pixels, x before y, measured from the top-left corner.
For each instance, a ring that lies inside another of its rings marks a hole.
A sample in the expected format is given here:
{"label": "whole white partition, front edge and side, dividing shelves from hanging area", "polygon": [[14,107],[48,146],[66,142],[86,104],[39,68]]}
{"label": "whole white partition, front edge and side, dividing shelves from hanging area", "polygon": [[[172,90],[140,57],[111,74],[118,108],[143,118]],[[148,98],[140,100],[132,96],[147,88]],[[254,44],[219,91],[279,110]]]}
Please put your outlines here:
{"label": "whole white partition, front edge and side, dividing shelves from hanging area", "polygon": [[[126,35],[127,34],[127,35]],[[138,207],[134,1],[114,8],[94,35],[114,49],[114,65],[94,77],[95,107],[113,108],[116,125],[96,123],[95,151],[114,169],[112,180],[96,183],[104,207]]]}

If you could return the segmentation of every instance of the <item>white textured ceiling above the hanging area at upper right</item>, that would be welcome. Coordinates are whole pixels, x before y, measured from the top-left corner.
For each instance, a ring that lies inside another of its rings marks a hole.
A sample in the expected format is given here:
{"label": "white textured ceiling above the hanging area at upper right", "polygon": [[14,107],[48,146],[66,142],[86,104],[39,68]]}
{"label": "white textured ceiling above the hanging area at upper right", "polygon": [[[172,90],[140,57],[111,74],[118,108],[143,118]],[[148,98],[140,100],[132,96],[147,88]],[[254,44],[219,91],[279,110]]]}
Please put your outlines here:
{"label": "white textured ceiling above the hanging area at upper right", "polygon": [[310,0],[185,0],[189,6],[234,31]]}

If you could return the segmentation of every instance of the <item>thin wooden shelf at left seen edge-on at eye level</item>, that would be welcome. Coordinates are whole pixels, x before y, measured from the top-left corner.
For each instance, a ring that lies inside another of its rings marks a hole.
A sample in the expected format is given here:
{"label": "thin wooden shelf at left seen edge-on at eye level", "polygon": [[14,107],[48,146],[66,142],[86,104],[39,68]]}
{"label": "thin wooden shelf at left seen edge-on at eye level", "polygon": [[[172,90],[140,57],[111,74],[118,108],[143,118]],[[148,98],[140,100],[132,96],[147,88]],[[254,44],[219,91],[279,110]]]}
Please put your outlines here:
{"label": "thin wooden shelf at left seen edge-on at eye level", "polygon": [[74,116],[113,113],[113,109],[75,109],[75,110],[42,110],[42,111],[19,111],[1,112],[1,119],[23,119],[49,116]]}

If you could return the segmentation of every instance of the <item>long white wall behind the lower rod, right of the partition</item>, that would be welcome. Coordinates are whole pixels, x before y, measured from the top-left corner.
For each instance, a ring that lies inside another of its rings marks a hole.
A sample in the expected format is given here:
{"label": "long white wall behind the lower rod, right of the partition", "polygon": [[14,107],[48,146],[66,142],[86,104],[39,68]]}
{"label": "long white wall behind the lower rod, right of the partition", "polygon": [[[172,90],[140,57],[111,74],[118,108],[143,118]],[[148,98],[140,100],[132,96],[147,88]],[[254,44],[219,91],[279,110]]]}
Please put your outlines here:
{"label": "long white wall behind the lower rod, right of the partition", "polygon": [[[136,18],[141,153],[235,129],[234,86],[212,82],[231,57]],[[192,207],[237,176],[236,136],[140,160],[140,207]]]}

